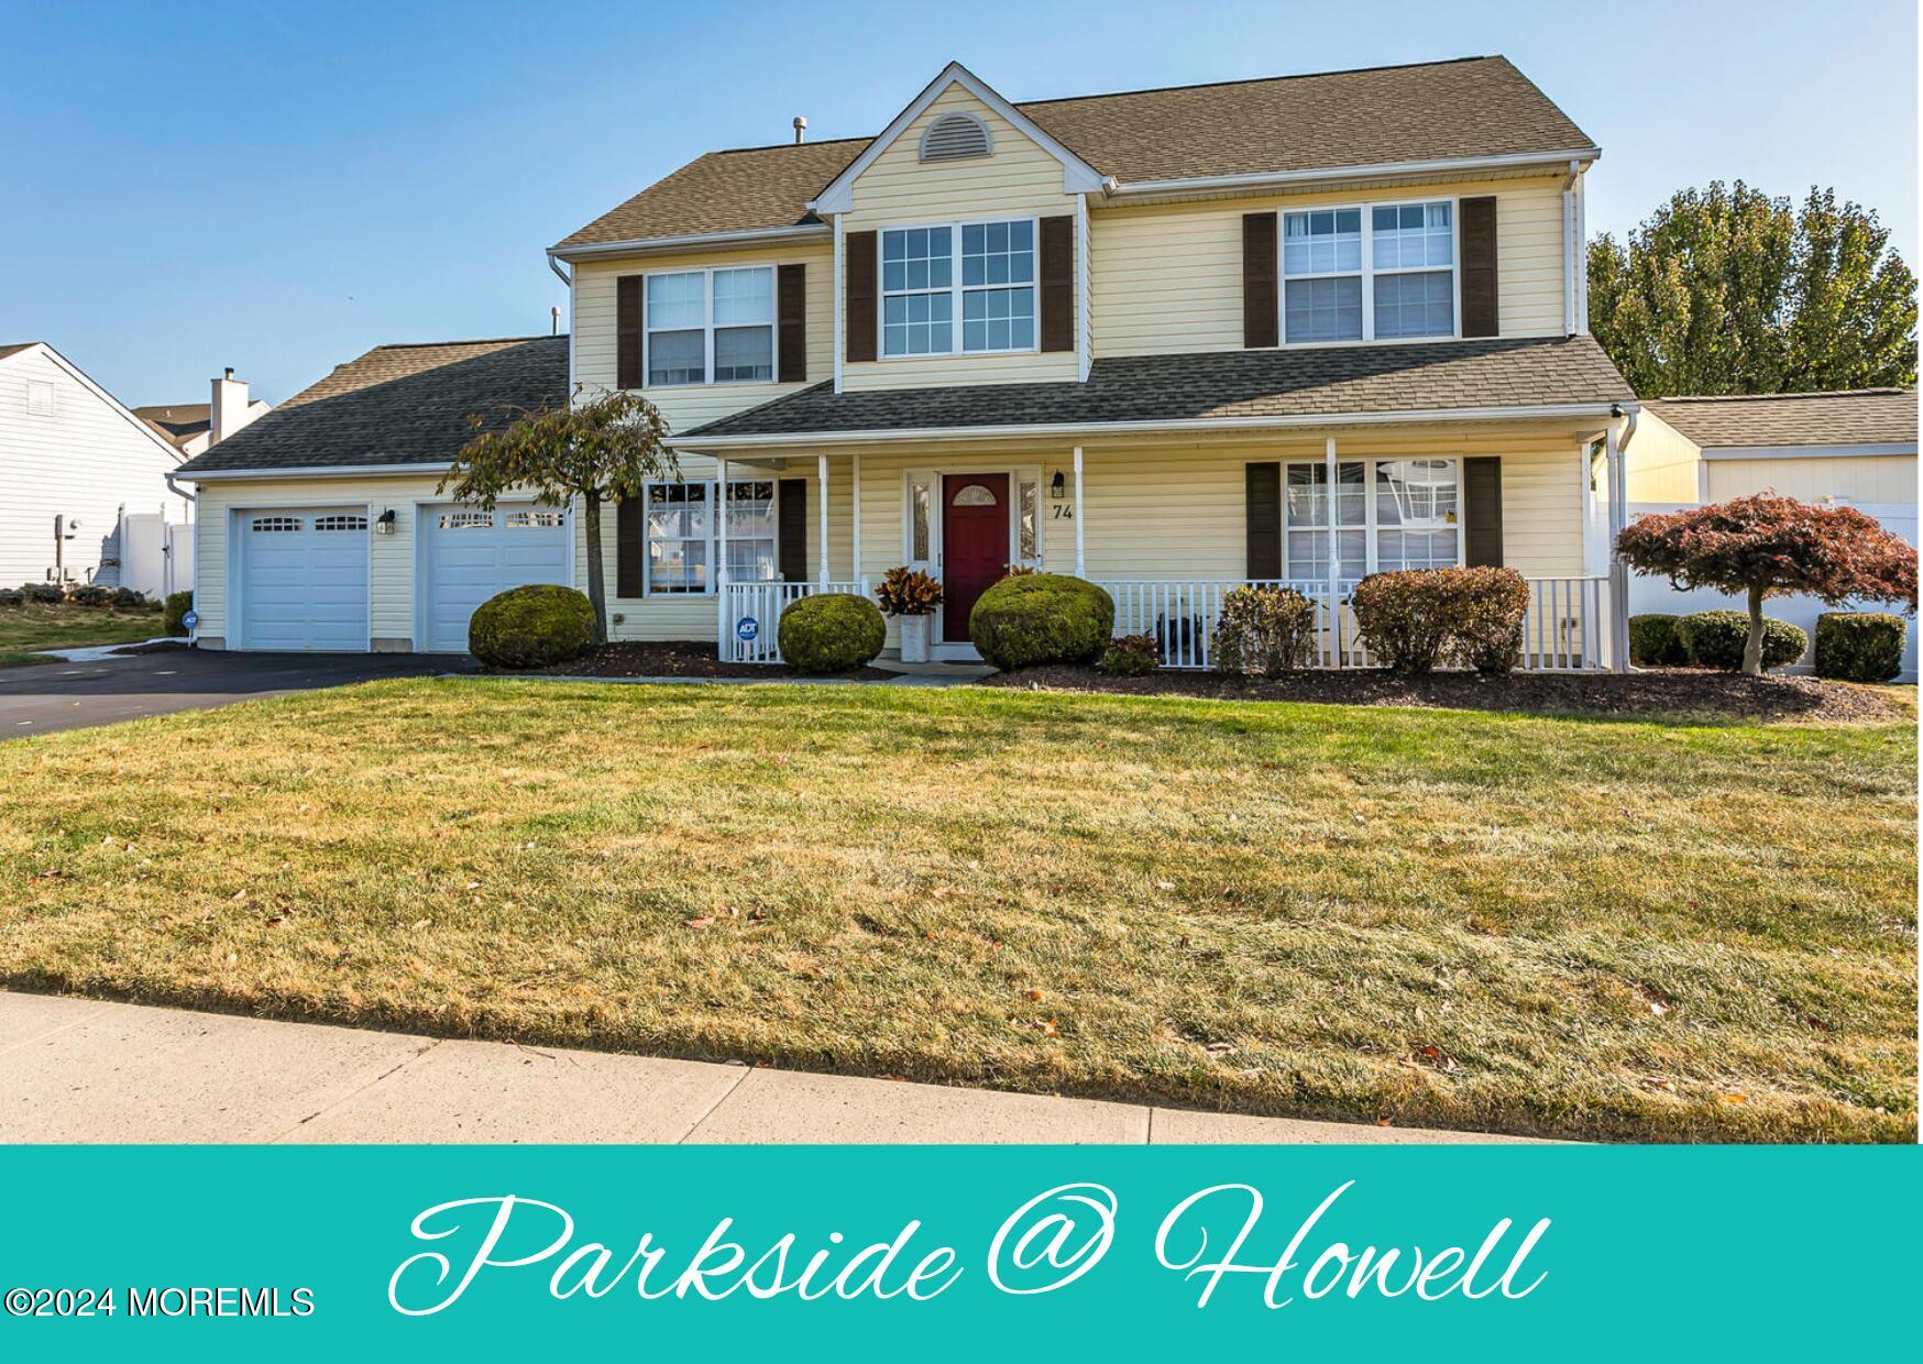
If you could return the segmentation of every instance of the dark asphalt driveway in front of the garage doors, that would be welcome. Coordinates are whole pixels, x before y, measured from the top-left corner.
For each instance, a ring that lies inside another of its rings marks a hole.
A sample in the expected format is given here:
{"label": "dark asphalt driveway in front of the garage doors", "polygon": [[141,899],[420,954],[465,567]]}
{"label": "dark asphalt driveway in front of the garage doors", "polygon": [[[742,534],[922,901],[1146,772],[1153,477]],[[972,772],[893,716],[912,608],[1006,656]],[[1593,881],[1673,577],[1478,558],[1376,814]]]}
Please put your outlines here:
{"label": "dark asphalt driveway in front of the garage doors", "polygon": [[0,739],[208,710],[375,677],[475,668],[465,654],[219,654],[192,648],[0,668]]}

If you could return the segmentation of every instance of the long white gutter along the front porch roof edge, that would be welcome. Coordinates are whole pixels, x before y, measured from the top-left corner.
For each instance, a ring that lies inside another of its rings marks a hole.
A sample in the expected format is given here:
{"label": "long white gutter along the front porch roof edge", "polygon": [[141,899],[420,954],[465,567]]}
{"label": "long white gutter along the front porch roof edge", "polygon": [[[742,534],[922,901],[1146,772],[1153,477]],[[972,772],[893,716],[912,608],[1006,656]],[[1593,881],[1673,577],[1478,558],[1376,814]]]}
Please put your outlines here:
{"label": "long white gutter along the front porch roof edge", "polygon": [[908,441],[1021,441],[1025,437],[1086,435],[1194,435],[1202,431],[1277,431],[1356,425],[1408,425],[1417,421],[1558,421],[1608,417],[1611,408],[1635,404],[1561,402],[1536,408],[1435,408],[1427,412],[1288,414],[1275,417],[1183,417],[1175,421],[1036,421],[996,427],[917,427],[904,431],[794,431],[777,435],[677,437],[677,450],[744,450],[763,446],[900,444]]}

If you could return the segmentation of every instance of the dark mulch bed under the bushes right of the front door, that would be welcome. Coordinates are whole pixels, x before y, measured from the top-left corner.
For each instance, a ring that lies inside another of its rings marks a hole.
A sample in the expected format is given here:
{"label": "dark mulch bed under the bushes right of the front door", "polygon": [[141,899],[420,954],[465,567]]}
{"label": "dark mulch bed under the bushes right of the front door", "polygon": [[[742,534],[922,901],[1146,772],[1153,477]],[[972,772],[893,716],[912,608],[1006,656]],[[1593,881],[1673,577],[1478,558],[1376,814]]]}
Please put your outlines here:
{"label": "dark mulch bed under the bushes right of the front door", "polygon": [[1160,671],[1110,677],[1092,668],[1029,668],[994,673],[983,687],[1106,691],[1125,696],[1211,696],[1217,700],[1302,700],[1331,706],[1440,706],[1611,718],[1688,716],[1708,720],[1883,721],[1911,710],[1886,693],[1817,677],[1744,677],[1686,668],[1642,673],[1433,673],[1304,671],[1275,679]]}

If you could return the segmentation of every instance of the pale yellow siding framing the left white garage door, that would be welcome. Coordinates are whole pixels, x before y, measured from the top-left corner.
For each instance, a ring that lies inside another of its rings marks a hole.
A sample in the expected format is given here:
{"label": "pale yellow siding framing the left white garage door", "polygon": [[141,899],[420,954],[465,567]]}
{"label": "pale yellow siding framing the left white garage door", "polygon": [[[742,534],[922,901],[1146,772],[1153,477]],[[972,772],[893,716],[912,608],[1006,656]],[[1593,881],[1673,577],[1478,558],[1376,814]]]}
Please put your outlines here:
{"label": "pale yellow siding framing the left white garage door", "polygon": [[194,531],[194,612],[200,637],[233,643],[227,619],[231,512],[279,506],[367,506],[369,523],[394,510],[392,535],[367,535],[367,621],[375,641],[413,641],[413,510],[438,502],[438,475],[369,479],[235,479],[200,485]]}

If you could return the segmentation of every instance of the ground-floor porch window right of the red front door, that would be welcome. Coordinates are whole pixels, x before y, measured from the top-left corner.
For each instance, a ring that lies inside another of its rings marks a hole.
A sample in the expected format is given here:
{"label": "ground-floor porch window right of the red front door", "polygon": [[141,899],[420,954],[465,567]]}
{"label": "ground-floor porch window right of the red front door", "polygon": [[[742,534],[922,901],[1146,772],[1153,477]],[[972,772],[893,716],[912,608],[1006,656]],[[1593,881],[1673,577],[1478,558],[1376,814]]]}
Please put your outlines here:
{"label": "ground-floor porch window right of the red front door", "polygon": [[[1333,494],[1336,577],[1356,583],[1369,573],[1461,564],[1460,493],[1460,460],[1340,460]],[[1292,581],[1329,579],[1329,464],[1288,464],[1283,569]]]}

